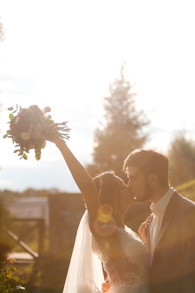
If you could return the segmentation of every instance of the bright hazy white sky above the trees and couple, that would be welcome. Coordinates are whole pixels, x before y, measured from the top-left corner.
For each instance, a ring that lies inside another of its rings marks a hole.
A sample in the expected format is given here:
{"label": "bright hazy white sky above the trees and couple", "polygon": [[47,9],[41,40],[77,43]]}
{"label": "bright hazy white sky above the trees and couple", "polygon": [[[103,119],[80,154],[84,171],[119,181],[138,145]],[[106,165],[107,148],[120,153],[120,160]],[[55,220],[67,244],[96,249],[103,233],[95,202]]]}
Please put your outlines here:
{"label": "bright hazy white sky above the trees and couple", "polygon": [[183,129],[195,138],[194,1],[0,0],[0,17],[0,189],[78,191],[51,143],[39,162],[13,153],[2,138],[7,108],[50,106],[55,122],[69,121],[68,146],[86,165],[123,62],[136,108],[151,121],[146,147],[167,153]]}

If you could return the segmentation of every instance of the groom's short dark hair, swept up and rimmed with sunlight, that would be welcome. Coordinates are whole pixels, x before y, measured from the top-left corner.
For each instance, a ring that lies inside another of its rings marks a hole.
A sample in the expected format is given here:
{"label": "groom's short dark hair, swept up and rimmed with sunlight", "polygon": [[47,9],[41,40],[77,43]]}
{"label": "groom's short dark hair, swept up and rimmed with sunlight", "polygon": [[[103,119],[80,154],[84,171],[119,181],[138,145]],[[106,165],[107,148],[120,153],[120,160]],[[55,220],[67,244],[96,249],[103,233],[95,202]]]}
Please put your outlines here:
{"label": "groom's short dark hair, swept up and rimmed with sunlight", "polygon": [[123,170],[128,171],[129,166],[136,166],[144,175],[156,173],[163,187],[170,187],[169,158],[154,149],[140,148],[133,150],[125,159]]}

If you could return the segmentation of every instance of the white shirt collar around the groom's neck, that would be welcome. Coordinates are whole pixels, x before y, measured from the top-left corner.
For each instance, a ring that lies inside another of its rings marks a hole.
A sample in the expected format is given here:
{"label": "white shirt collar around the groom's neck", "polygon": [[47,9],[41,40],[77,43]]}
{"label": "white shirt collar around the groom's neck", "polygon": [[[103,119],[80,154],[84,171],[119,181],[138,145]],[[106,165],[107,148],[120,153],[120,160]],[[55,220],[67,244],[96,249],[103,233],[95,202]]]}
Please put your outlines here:
{"label": "white shirt collar around the groom's neck", "polygon": [[167,208],[167,205],[169,204],[169,201],[174,193],[174,188],[171,187],[161,199],[156,204],[151,205],[150,209],[152,210],[152,213],[154,216],[160,216],[164,213],[165,209]]}

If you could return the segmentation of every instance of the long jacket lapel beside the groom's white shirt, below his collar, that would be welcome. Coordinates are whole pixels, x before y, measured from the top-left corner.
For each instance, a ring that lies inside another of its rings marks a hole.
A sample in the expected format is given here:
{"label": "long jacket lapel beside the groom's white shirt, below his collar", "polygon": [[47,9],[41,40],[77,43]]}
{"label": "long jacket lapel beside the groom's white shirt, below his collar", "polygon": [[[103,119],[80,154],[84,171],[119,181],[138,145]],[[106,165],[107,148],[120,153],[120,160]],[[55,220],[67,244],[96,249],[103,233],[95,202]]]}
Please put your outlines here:
{"label": "long jacket lapel beside the groom's white shirt, below his collar", "polygon": [[[165,233],[165,231],[167,230],[167,228],[169,227],[169,224],[173,218],[173,215],[175,214],[177,205],[179,203],[181,195],[175,191],[172,195],[172,198],[170,199],[170,202],[165,210],[165,214],[163,216],[163,220],[162,220],[162,224],[160,227],[160,231],[159,231],[159,235],[158,235],[158,241],[156,243],[156,247],[160,241],[160,239],[162,238],[163,234]],[[154,251],[155,253],[155,251]]]}

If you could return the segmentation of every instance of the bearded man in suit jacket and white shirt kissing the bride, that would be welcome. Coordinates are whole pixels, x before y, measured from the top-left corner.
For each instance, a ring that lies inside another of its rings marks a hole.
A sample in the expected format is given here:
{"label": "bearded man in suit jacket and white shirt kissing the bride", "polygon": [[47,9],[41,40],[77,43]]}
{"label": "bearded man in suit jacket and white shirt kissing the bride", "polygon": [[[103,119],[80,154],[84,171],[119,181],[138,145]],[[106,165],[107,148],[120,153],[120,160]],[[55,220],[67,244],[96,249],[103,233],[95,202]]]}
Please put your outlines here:
{"label": "bearded man in suit jacket and white shirt kissing the bride", "polygon": [[[162,153],[136,149],[123,168],[132,195],[152,203],[139,229],[150,248],[151,293],[195,293],[195,203],[170,188],[169,159]],[[102,291],[108,287],[104,283]]]}

